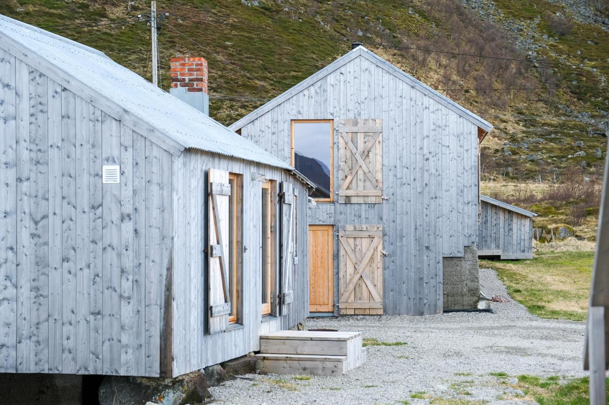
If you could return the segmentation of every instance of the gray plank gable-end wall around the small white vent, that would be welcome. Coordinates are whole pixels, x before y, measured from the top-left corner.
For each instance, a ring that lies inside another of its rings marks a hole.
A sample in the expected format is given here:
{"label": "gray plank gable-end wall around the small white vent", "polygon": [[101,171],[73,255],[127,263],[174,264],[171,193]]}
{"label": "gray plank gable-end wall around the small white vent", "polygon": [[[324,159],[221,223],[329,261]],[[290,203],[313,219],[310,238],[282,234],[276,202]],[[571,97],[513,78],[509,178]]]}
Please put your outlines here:
{"label": "gray plank gable-end wall around the small white vent", "polygon": [[2,49],[0,81],[0,372],[158,376],[171,154]]}

